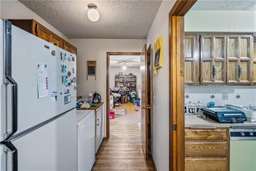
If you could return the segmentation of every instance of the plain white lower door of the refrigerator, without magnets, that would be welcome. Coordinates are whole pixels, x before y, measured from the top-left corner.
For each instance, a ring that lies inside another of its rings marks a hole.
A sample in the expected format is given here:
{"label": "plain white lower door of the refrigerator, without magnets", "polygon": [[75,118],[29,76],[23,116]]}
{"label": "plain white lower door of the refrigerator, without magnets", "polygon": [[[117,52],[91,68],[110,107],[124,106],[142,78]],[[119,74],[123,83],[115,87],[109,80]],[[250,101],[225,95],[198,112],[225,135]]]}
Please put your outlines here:
{"label": "plain white lower door of the refrigerator, without magnets", "polygon": [[[76,109],[12,141],[18,152],[19,171],[76,171]],[[1,160],[2,160],[1,156]],[[6,170],[12,170],[8,152]]]}

